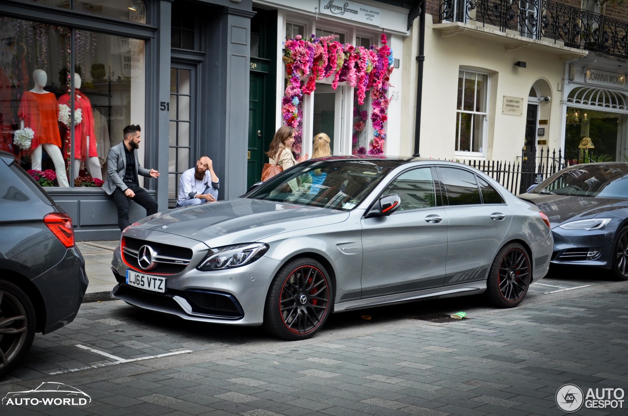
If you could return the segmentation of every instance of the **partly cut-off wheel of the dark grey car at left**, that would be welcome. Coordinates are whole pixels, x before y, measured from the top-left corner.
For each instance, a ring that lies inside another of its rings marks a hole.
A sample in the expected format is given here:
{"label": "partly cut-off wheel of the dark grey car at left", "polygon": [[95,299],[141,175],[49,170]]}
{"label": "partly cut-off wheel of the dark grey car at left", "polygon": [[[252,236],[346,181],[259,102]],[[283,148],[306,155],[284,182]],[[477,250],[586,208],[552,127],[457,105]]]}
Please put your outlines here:
{"label": "partly cut-off wheel of the dark grey car at left", "polygon": [[0,378],[28,353],[35,338],[35,309],[14,283],[0,280]]}

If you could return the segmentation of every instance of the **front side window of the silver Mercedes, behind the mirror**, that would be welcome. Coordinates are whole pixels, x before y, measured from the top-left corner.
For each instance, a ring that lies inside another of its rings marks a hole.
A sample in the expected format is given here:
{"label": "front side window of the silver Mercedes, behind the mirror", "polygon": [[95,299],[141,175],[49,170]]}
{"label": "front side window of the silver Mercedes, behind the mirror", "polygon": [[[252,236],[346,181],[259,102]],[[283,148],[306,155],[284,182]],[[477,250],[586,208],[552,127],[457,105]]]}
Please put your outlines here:
{"label": "front side window of the silver Mercedes, behind the mirror", "polygon": [[384,194],[397,194],[401,199],[398,211],[436,206],[436,192],[431,168],[418,168],[401,173],[384,190]]}

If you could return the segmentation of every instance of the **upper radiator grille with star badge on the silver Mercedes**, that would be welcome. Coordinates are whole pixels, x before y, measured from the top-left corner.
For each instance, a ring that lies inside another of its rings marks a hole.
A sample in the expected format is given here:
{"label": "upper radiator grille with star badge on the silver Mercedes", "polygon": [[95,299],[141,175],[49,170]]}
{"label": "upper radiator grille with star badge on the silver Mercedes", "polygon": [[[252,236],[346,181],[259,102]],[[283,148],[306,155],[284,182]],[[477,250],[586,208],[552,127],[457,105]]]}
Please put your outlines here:
{"label": "upper radiator grille with star badge on the silver Mercedes", "polygon": [[[150,270],[144,270],[139,266],[138,253],[142,246],[150,246],[156,255],[154,262],[156,266]],[[136,238],[125,237],[122,239],[122,260],[143,273],[151,275],[176,275],[185,270],[192,260],[192,249],[170,244],[154,243],[153,241],[144,241]]]}

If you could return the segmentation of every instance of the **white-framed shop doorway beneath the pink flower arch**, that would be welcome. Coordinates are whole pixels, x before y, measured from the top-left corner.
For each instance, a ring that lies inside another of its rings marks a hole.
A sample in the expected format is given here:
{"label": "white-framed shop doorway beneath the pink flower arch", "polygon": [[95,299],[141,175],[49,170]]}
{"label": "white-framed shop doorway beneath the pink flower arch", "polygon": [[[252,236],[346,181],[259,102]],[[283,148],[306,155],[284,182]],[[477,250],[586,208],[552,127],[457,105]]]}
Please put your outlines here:
{"label": "white-framed shop doorway beneath the pink flower arch", "polygon": [[[342,108],[344,105],[345,87],[338,86],[336,90],[332,85],[318,84],[314,90],[314,114],[312,119],[312,136],[325,133],[330,138],[330,147],[333,155],[342,155]],[[312,140],[312,138],[303,138]]]}

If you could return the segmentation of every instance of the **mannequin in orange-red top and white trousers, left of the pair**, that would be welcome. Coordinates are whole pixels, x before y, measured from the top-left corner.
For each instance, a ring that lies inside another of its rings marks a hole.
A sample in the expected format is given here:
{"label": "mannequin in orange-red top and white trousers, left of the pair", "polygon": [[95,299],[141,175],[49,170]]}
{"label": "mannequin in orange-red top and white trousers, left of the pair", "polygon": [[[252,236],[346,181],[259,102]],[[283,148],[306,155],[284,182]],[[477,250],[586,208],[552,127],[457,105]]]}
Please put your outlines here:
{"label": "mannequin in orange-red top and white trousers, left of the pair", "polygon": [[55,165],[57,182],[60,187],[69,187],[65,173],[65,162],[61,154],[61,136],[57,120],[59,106],[55,94],[43,89],[48,82],[48,75],[42,69],[33,71],[35,87],[22,94],[18,116],[19,127],[30,127],[35,132],[31,142],[31,169],[41,170],[41,149],[48,153]]}

